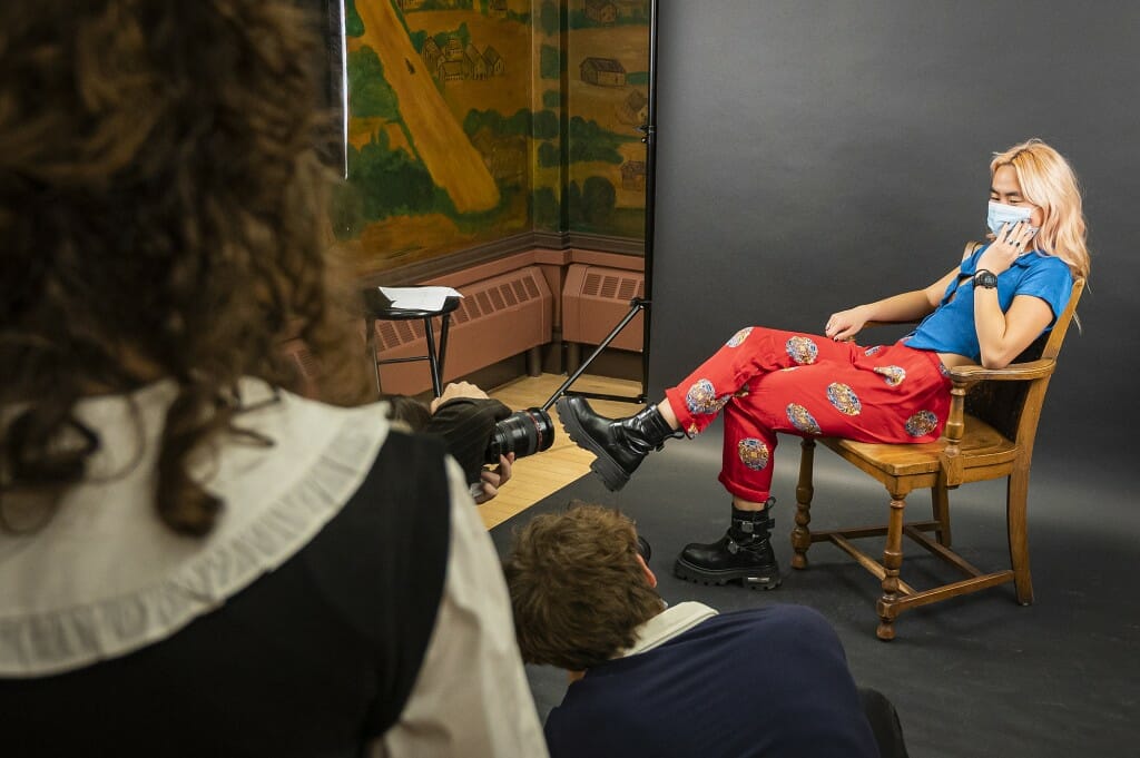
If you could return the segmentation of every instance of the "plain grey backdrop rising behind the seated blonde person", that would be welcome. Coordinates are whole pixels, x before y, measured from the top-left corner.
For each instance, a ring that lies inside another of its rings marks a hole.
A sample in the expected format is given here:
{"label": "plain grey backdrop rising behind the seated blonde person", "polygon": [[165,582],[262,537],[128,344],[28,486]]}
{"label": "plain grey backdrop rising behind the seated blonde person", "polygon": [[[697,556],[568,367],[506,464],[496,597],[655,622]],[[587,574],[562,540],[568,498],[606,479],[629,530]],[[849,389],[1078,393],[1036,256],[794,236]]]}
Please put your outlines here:
{"label": "plain grey backdrop rising behind the seated blonde person", "polygon": [[1092,275],[1037,460],[1112,465],[1140,416],[1138,22],[1132,2],[661,0],[651,396],[740,326],[822,331],[929,284],[985,231],[992,153],[1040,137],[1082,180]]}

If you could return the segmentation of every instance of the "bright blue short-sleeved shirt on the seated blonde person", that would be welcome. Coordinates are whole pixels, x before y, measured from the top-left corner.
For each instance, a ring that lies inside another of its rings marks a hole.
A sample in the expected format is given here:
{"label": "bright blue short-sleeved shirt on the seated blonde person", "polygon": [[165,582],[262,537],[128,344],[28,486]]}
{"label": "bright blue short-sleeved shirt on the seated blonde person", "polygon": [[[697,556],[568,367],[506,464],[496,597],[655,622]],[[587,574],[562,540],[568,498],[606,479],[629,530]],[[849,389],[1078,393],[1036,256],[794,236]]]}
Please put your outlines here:
{"label": "bright blue short-sleeved shirt on the seated blonde person", "polygon": [[[907,347],[954,352],[975,361],[982,359],[978,331],[974,325],[972,277],[978,271],[978,259],[986,247],[988,245],[983,245],[962,261],[958,279],[946,287],[938,308],[903,337]],[[951,300],[955,292],[958,295]],[[1065,310],[1072,293],[1073,275],[1068,264],[1059,258],[1037,251],[1025,253],[997,275],[997,303],[1002,311],[1009,310],[1017,295],[1041,298],[1053,311],[1053,318],[1045,327],[1047,332],[1053,328],[1053,323]]]}

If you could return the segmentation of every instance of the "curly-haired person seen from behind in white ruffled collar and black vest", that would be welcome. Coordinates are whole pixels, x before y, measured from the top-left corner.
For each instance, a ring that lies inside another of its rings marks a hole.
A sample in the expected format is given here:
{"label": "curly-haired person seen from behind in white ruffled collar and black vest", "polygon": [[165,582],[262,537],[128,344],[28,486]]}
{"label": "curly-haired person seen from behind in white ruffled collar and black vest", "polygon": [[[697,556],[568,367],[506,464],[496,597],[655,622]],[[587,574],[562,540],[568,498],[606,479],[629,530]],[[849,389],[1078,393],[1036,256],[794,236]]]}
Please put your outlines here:
{"label": "curly-haired person seen from behind in white ruffled collar and black vest", "polygon": [[546,755],[462,472],[359,405],[319,24],[0,3],[5,755]]}

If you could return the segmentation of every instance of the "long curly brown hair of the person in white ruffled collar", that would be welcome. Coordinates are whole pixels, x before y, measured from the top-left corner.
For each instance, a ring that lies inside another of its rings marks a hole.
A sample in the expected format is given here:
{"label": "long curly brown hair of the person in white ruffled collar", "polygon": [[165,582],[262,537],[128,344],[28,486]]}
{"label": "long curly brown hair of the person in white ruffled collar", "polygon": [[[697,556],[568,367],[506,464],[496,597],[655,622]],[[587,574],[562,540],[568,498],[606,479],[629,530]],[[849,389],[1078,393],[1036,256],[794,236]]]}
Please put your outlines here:
{"label": "long curly brown hair of the person in white ruffled collar", "polygon": [[168,377],[155,505],[204,535],[222,503],[188,458],[239,431],[241,377],[294,386],[285,336],[363,399],[320,225],[320,23],[284,0],[0,3],[0,506],[83,478],[81,397]]}

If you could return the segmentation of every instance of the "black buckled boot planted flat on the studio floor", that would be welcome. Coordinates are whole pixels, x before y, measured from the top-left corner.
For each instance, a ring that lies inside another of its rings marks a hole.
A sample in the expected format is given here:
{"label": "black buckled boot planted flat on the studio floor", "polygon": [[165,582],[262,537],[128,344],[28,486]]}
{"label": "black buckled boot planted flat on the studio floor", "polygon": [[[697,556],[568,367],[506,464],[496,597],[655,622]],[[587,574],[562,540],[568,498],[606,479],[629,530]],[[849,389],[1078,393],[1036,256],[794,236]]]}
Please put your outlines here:
{"label": "black buckled boot planted flat on the studio floor", "polygon": [[681,552],[673,572],[681,579],[705,585],[723,585],[740,579],[752,589],[780,586],[780,565],[772,552],[768,530],[775,524],[768,513],[775,505],[768,498],[763,511],[732,510],[732,525],[719,540],[693,543]]}

